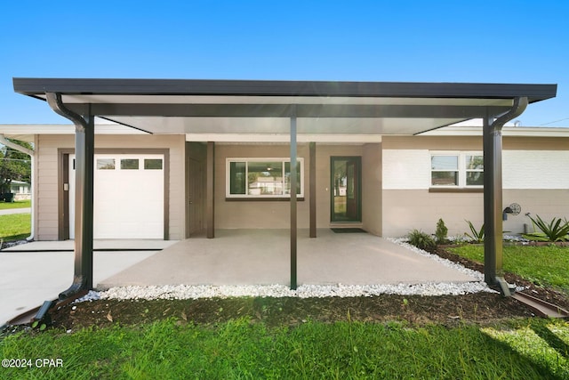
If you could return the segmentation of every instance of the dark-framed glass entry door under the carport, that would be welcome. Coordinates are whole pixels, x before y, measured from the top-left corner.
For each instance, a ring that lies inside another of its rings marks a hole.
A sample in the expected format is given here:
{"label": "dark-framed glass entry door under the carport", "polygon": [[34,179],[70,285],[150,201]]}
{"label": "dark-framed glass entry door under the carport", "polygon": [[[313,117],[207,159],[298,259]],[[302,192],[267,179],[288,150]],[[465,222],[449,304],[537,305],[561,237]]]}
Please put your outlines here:
{"label": "dark-framed glass entry door under the carport", "polygon": [[331,158],[331,220],[361,222],[360,157]]}

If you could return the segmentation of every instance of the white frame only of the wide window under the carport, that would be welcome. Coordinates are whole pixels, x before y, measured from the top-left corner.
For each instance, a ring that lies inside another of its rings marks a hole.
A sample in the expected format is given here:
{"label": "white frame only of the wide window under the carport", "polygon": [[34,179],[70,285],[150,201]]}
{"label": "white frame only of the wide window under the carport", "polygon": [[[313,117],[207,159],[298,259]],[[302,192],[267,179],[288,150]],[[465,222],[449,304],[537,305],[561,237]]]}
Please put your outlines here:
{"label": "white frame only of the wide window under the carport", "polygon": [[[245,194],[231,194],[231,164],[232,163],[244,163],[245,164]],[[254,199],[254,200],[278,200],[291,198],[291,194],[247,194],[249,189],[248,173],[249,173],[249,163],[250,162],[280,162],[283,168],[282,184],[283,189],[286,188],[286,172],[285,164],[291,162],[291,158],[226,158],[225,159],[225,198],[230,200],[236,199]],[[304,158],[297,158],[298,165],[301,168],[301,192],[296,194],[297,198],[304,198]]]}

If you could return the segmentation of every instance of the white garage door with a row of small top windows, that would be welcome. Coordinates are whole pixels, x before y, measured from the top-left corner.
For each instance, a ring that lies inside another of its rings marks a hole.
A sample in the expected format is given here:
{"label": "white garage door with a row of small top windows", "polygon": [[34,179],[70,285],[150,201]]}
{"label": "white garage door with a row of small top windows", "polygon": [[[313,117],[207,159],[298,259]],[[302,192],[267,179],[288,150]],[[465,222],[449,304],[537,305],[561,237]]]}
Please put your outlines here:
{"label": "white garage door with a row of small top windows", "polygon": [[[164,155],[96,154],[94,239],[164,239]],[[75,238],[75,156],[69,155],[69,238]]]}

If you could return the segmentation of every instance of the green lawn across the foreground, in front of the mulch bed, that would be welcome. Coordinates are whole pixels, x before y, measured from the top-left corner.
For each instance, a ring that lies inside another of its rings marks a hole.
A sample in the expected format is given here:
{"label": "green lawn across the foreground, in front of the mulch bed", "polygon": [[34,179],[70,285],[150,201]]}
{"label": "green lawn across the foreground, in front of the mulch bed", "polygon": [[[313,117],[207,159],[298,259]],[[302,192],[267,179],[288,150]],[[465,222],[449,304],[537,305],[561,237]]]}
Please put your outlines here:
{"label": "green lawn across the foreground, in front of the mulch bed", "polygon": [[[546,319],[509,327],[410,327],[307,322],[269,328],[236,319],[220,325],[173,319],[138,327],[48,330],[0,341],[5,378],[567,378],[569,324]],[[63,368],[36,368],[36,358]]]}

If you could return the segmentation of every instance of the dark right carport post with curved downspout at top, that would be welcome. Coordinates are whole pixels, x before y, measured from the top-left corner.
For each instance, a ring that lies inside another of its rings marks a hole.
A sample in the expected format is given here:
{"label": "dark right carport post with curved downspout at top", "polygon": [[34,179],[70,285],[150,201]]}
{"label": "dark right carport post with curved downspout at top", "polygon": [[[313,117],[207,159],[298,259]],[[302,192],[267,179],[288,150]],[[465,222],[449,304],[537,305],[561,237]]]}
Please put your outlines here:
{"label": "dark right carport post with curved downspout at top", "polygon": [[527,107],[528,99],[514,99],[512,108],[494,118],[490,113],[484,118],[484,221],[485,221],[485,282],[500,287],[502,295],[509,296],[509,285],[502,277],[502,127]]}

